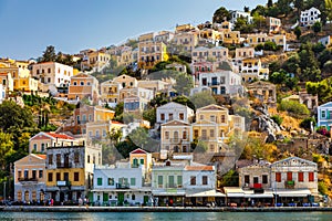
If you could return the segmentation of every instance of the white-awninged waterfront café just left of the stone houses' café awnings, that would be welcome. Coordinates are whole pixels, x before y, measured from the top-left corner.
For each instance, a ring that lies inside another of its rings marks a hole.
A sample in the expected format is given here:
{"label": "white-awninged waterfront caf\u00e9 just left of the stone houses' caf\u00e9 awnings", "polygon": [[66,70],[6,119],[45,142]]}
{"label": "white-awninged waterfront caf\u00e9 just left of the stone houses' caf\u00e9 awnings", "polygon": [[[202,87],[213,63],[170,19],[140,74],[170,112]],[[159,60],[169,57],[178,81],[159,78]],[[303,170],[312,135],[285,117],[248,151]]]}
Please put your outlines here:
{"label": "white-awninged waterfront caf\u00e9 just left of the stone houses' caf\u00e9 awnings", "polygon": [[186,190],[185,206],[224,206],[225,197],[222,192],[219,192],[215,189],[208,190]]}

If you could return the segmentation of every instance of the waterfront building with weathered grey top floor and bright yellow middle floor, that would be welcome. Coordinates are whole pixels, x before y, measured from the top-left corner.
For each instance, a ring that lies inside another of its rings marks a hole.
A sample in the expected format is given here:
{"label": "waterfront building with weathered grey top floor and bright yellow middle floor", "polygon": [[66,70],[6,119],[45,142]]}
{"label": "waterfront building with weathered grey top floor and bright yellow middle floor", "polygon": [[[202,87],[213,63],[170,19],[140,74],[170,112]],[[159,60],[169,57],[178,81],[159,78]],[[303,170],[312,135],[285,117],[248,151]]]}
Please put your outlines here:
{"label": "waterfront building with weathered grey top floor and bright yellow middle floor", "polygon": [[71,146],[52,146],[46,157],[46,194],[58,202],[87,197],[93,185],[93,168],[102,165],[101,146],[84,141]]}

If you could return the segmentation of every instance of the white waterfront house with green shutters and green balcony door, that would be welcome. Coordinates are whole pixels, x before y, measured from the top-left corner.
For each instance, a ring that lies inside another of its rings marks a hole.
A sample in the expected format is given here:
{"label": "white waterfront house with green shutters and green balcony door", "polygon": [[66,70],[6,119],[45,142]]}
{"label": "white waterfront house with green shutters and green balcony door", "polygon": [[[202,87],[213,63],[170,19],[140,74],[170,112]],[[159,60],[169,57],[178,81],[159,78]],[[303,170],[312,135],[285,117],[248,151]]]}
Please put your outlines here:
{"label": "white waterfront house with green shutters and green balcony door", "polygon": [[143,187],[142,168],[94,168],[93,200],[98,206],[141,206],[152,201],[151,189]]}

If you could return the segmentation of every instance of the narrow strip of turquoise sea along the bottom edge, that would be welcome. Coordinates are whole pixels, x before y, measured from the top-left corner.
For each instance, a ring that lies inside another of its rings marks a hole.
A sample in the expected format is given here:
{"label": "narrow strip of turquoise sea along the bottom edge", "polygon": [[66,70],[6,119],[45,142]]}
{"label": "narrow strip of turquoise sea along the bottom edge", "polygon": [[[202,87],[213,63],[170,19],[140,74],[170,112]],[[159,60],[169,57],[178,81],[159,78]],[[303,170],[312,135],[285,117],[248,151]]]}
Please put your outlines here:
{"label": "narrow strip of turquoise sea along the bottom edge", "polygon": [[210,220],[332,220],[332,212],[0,212],[1,221],[13,220],[152,220],[152,221],[210,221]]}

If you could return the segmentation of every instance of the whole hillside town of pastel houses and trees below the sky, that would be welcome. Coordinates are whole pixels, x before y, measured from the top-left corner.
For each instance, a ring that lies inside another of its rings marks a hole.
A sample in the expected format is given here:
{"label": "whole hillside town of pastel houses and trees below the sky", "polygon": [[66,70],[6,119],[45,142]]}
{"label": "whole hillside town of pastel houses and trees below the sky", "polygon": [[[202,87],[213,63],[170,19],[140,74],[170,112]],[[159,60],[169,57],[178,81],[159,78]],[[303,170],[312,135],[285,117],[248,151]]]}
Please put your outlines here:
{"label": "whole hillside town of pastel houses and trees below the sky", "polygon": [[332,8],[284,2],[1,57],[1,203],[331,207]]}

